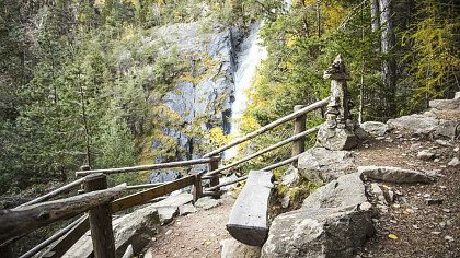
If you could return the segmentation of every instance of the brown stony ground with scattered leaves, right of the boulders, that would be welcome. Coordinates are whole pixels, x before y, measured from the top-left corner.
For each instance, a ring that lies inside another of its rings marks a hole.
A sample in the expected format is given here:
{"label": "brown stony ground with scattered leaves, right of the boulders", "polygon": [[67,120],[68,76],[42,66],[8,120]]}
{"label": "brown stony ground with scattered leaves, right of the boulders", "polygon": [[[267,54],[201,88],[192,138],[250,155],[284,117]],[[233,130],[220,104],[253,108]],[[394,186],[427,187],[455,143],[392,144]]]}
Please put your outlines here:
{"label": "brown stony ground with scattered leaves, right of the boulders", "polygon": [[[395,198],[387,202],[388,212],[373,219],[376,235],[358,257],[459,256],[460,175],[458,166],[447,165],[459,155],[459,144],[445,143],[392,133],[356,151],[358,165],[401,166],[433,173],[437,178],[426,185],[379,184],[396,192]],[[434,156],[422,160],[418,154],[424,151]]]}

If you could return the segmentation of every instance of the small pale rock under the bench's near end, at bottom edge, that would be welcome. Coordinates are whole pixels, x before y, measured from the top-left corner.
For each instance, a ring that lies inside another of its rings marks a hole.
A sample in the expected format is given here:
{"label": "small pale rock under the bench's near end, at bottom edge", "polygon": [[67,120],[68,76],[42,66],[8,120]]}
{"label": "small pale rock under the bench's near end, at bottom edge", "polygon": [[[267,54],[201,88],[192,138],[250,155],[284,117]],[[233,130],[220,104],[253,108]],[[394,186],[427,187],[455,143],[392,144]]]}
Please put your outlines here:
{"label": "small pale rock under the bench's near end, at bottom edge", "polygon": [[221,258],[258,258],[261,257],[260,246],[244,245],[233,238],[220,242]]}

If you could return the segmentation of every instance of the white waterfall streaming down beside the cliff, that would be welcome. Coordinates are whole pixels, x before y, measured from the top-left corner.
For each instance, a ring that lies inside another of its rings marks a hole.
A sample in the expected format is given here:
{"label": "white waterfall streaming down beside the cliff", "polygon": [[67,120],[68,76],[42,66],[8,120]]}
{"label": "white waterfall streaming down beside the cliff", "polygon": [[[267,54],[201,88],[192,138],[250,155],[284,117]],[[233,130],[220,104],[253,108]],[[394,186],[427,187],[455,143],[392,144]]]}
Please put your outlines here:
{"label": "white waterfall streaming down beside the cliff", "polygon": [[[258,32],[263,22],[254,22],[250,26],[248,37],[241,43],[237,55],[237,70],[234,72],[234,101],[231,104],[230,134],[233,138],[240,136],[240,120],[248,106],[246,90],[250,87],[257,66],[267,56],[267,50],[262,46]],[[237,155],[238,146],[231,148],[223,153],[225,159]]]}

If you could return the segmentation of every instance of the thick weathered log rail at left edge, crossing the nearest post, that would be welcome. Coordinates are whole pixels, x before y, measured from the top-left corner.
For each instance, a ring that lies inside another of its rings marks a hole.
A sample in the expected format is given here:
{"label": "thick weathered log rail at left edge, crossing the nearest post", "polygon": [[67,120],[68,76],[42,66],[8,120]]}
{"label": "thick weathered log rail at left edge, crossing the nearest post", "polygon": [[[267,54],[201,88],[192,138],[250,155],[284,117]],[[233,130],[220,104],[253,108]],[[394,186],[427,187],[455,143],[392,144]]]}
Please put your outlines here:
{"label": "thick weathered log rail at left edge, crossing the nearest post", "polygon": [[0,211],[0,246],[42,226],[110,202],[126,190],[126,184],[65,199]]}

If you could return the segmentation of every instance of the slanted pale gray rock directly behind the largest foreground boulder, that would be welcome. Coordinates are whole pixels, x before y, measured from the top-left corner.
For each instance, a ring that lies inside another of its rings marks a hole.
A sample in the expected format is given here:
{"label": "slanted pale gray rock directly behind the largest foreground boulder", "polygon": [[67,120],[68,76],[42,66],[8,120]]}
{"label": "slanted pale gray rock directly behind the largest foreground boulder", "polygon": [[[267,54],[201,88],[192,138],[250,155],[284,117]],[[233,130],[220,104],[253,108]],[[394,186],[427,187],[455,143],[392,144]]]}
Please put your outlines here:
{"label": "slanted pale gray rock directly behind the largest foreground boulder", "polygon": [[304,199],[302,209],[350,207],[359,206],[366,201],[365,185],[359,178],[359,174],[353,173],[318,188]]}

